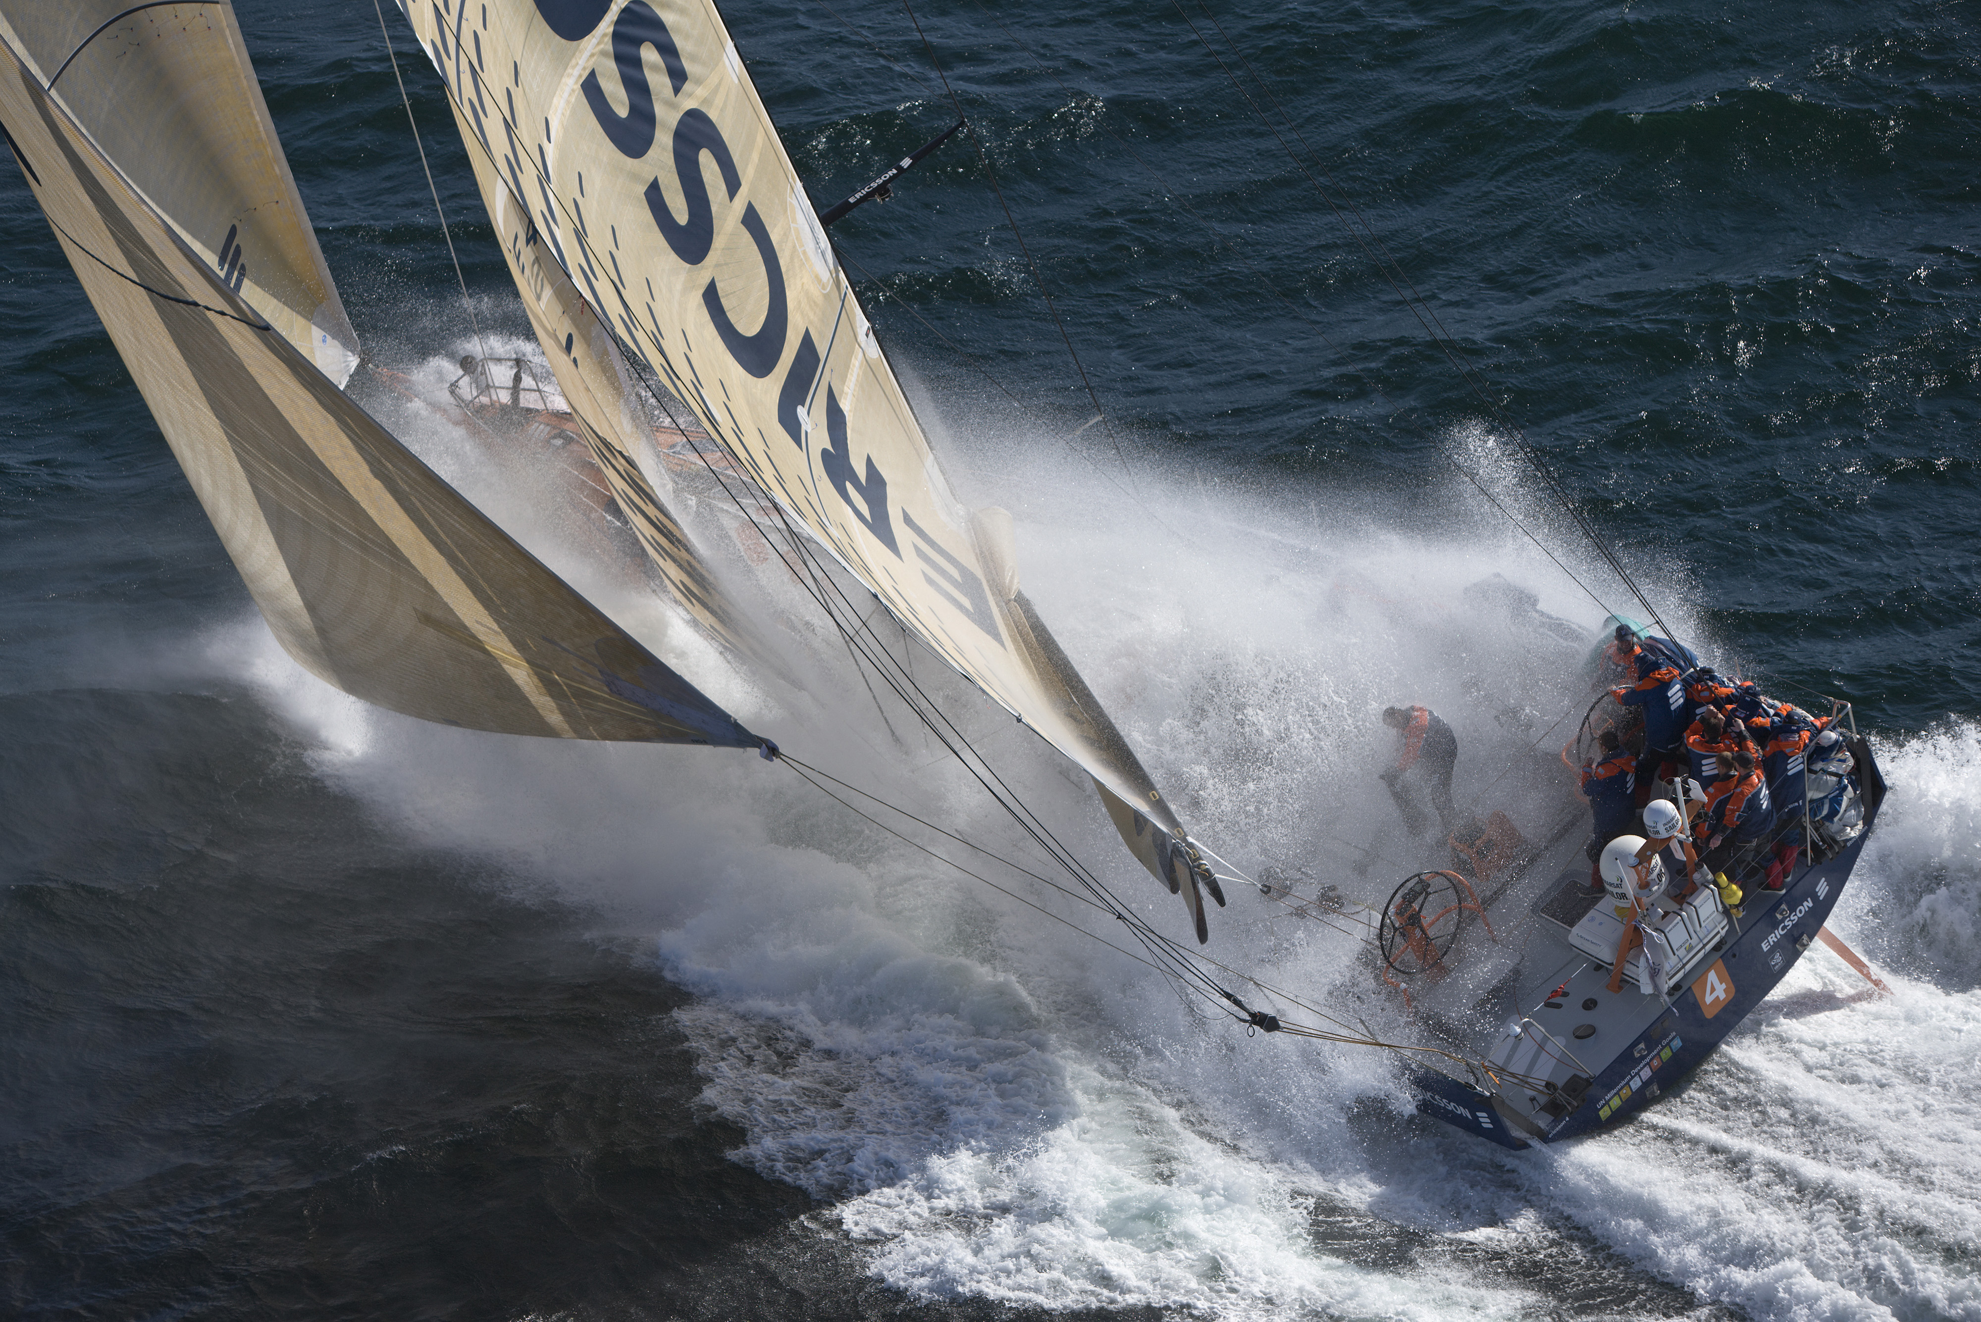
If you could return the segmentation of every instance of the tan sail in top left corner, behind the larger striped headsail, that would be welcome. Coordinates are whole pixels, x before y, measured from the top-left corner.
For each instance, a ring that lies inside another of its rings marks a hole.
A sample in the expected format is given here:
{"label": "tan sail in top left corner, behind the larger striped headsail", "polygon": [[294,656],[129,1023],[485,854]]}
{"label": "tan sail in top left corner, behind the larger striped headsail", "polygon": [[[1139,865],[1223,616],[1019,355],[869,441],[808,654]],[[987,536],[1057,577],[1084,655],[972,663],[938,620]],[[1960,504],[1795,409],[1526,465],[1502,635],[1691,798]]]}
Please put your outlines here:
{"label": "tan sail in top left corner, behind the larger striped headsail", "polygon": [[0,36],[178,237],[343,386],[337,285],[224,0],[4,0]]}

